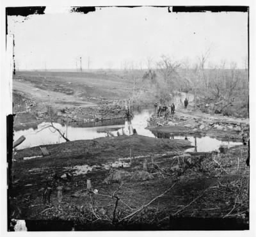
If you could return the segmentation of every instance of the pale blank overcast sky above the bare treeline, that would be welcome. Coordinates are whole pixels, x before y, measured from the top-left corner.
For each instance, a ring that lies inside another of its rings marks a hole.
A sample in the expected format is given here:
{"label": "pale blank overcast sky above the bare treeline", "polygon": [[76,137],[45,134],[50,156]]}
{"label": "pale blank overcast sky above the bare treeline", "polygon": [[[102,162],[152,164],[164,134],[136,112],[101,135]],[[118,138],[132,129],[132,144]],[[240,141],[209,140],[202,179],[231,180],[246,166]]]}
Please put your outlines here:
{"label": "pale blank overcast sky above the bare treeline", "polygon": [[[19,69],[145,67],[163,54],[195,63],[210,49],[210,65],[221,60],[244,67],[248,55],[247,13],[168,13],[168,8],[97,8],[87,14],[46,8],[44,15],[8,17]],[[23,22],[22,22],[23,21]],[[207,66],[209,66],[209,62]]]}

